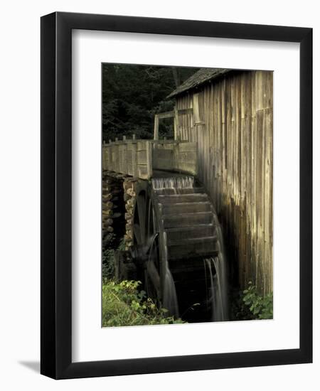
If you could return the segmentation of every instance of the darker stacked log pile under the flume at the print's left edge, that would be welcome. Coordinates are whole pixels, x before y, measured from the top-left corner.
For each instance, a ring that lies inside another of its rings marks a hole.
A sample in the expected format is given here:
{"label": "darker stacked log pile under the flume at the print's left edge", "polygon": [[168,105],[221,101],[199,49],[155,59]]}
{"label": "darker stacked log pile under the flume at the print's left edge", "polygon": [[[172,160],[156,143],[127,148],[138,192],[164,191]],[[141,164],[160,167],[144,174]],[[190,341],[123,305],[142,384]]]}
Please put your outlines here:
{"label": "darker stacked log pile under the flume at the print's left edge", "polygon": [[114,219],[121,213],[117,211],[117,201],[122,196],[121,181],[110,175],[110,171],[102,173],[102,231],[103,234],[114,232]]}

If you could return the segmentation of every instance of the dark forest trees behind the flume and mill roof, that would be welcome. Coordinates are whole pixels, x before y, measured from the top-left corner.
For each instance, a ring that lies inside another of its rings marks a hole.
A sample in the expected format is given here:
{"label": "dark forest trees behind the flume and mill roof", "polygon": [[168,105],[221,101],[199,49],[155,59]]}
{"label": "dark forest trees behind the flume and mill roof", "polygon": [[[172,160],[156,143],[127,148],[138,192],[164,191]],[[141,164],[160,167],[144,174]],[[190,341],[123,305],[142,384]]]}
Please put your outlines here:
{"label": "dark forest trees behind the flume and mill roof", "polygon": [[[166,97],[200,68],[151,65],[102,65],[102,137],[104,141],[136,134],[153,138],[154,114],[174,109]],[[173,138],[173,120],[159,124],[160,137]]]}

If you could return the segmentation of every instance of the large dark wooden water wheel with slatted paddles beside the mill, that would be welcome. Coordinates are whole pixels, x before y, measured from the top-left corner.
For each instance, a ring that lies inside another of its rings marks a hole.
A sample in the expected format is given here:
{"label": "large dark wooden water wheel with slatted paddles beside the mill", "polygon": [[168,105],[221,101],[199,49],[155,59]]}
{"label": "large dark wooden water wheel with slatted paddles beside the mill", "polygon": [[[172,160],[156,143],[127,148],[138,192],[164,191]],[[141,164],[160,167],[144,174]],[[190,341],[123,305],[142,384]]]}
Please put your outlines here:
{"label": "large dark wooden water wheel with slatted paddles beside the mill", "polygon": [[192,183],[139,183],[132,257],[148,296],[169,314],[209,321],[205,259],[218,257],[222,238],[210,198]]}

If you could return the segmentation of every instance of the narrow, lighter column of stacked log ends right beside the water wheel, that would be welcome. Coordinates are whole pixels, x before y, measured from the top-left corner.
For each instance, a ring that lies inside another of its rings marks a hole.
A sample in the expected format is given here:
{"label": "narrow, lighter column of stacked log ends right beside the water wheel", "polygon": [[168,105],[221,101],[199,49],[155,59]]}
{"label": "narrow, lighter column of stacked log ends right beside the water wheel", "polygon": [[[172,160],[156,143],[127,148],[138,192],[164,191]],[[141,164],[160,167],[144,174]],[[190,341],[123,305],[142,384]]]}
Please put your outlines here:
{"label": "narrow, lighter column of stacked log ends right beside the water wheel", "polygon": [[126,213],[124,215],[126,220],[126,233],[124,235],[124,242],[126,250],[129,250],[133,245],[133,219],[134,219],[134,203],[136,201],[136,183],[134,178],[125,178],[123,182],[124,200],[126,203]]}

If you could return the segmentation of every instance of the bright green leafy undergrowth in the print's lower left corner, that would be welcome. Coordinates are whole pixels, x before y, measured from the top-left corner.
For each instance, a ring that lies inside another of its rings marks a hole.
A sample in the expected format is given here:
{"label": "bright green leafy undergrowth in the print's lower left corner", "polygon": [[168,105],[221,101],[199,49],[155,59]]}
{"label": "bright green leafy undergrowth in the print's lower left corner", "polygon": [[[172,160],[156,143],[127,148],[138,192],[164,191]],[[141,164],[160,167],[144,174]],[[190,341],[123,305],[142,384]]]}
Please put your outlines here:
{"label": "bright green leafy undergrowth in the print's lower left corner", "polygon": [[139,281],[105,281],[102,286],[102,326],[140,326],[150,324],[183,323],[166,316],[166,309],[158,309],[139,291]]}

